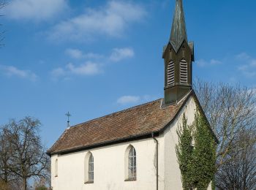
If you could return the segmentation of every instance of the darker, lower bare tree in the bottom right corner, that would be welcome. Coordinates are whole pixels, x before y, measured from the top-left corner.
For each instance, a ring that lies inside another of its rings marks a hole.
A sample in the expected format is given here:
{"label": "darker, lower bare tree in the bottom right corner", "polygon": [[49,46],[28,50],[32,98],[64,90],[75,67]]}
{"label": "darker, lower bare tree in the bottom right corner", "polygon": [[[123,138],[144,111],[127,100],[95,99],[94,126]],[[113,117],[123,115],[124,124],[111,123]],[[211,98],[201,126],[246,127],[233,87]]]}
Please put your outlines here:
{"label": "darker, lower bare tree in the bottom right corner", "polygon": [[227,154],[232,161],[222,165],[216,175],[218,189],[256,189],[256,133],[245,131],[233,142]]}

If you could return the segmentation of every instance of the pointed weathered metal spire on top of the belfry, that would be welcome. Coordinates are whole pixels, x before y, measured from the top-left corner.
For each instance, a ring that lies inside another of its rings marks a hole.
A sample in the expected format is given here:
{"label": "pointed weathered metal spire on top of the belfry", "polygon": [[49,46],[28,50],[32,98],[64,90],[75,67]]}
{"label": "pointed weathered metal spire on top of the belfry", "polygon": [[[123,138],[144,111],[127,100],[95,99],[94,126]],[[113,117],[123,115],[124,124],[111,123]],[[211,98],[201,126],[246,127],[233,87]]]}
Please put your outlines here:
{"label": "pointed weathered metal spire on top of the belfry", "polygon": [[187,30],[185,24],[182,0],[176,0],[176,8],[173,16],[173,26],[170,33],[170,44],[177,52],[182,42],[187,41]]}

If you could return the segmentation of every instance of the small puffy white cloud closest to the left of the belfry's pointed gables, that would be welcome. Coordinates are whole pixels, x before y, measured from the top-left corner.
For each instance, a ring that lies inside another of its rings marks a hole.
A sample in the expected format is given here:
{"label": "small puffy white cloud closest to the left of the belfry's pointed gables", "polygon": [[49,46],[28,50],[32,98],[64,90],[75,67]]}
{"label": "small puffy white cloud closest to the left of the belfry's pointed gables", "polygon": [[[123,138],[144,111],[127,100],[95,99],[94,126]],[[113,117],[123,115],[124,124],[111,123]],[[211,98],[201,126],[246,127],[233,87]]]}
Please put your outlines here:
{"label": "small puffy white cloud closest to the left of the belfry's pointed gables", "polygon": [[110,55],[110,61],[121,61],[124,58],[132,58],[134,55],[132,48],[115,48]]}

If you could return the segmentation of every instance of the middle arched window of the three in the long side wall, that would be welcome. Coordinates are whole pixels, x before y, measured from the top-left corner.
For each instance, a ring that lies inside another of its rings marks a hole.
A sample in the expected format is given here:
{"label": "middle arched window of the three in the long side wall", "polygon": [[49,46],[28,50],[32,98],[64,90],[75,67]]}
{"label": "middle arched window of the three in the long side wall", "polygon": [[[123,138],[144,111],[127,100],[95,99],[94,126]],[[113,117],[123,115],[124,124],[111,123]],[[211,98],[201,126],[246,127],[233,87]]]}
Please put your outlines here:
{"label": "middle arched window of the three in the long side wall", "polygon": [[86,153],[84,160],[85,183],[94,183],[94,156],[91,152]]}

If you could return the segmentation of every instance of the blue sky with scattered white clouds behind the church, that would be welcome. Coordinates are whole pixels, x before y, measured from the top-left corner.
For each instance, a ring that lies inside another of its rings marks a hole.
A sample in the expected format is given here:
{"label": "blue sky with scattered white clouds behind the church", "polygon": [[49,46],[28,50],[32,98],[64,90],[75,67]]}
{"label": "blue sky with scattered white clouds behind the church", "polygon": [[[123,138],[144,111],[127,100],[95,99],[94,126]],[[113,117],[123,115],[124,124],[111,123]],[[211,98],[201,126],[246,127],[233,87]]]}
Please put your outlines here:
{"label": "blue sky with scattered white clouds behind the church", "polygon": [[[175,0],[10,0],[1,9],[0,123],[42,122],[50,147],[82,123],[162,98]],[[184,0],[193,77],[255,88],[255,0]]]}

